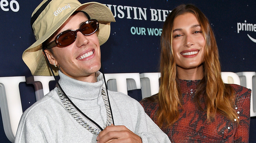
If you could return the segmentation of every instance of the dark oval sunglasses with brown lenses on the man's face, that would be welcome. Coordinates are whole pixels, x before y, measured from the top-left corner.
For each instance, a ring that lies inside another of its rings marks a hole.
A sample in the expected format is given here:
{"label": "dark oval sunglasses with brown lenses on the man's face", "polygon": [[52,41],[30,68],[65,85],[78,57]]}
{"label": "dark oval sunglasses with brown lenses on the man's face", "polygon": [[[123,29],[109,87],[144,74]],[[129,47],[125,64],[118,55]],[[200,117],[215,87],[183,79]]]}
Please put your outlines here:
{"label": "dark oval sunglasses with brown lenses on the man's face", "polygon": [[88,36],[94,34],[98,29],[99,23],[96,19],[88,20],[84,22],[79,29],[61,32],[55,37],[54,41],[51,41],[50,43],[46,44],[44,46],[44,49],[50,49],[55,46],[60,48],[66,47],[75,42],[76,33],[78,31],[80,31],[83,35]]}

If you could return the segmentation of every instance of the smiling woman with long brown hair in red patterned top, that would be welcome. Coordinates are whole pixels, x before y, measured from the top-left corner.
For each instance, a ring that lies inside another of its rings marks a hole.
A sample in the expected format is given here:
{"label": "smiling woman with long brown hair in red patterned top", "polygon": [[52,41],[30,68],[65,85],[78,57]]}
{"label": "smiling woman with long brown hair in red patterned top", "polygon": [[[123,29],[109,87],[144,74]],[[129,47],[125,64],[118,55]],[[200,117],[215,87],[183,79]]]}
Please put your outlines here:
{"label": "smiling woman with long brown hair in red patterned top", "polygon": [[160,71],[159,93],[141,104],[173,143],[248,142],[251,90],[223,83],[213,31],[195,6],[168,15]]}

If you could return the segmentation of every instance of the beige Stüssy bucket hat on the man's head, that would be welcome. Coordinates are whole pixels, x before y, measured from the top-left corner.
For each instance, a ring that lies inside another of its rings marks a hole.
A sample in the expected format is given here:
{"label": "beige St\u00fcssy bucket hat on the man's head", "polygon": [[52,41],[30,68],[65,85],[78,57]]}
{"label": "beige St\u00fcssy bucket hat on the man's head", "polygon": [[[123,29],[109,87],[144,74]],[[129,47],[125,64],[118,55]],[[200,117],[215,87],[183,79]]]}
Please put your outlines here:
{"label": "beige St\u00fcssy bucket hat on the man's head", "polygon": [[[111,10],[103,4],[89,2],[81,4],[77,0],[44,0],[32,13],[31,25],[36,42],[23,52],[22,59],[32,75],[51,76],[51,70],[42,52],[42,43],[75,12],[85,11],[91,19],[99,22],[97,37],[104,44],[110,35],[110,22],[115,22]],[[54,74],[58,70],[52,66]]]}

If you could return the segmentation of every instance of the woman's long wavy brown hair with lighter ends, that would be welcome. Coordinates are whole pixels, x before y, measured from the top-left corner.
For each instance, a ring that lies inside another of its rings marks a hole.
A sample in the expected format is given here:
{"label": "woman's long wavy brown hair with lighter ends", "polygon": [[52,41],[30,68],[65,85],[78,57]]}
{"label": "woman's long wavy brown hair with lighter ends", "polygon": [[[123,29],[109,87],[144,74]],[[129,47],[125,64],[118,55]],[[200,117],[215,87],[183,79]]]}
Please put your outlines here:
{"label": "woman's long wavy brown hair with lighter ends", "polygon": [[[174,19],[184,13],[194,14],[201,25],[204,39],[204,77],[200,81],[196,99],[199,104],[199,95],[205,95],[207,120],[212,121],[216,112],[224,115],[230,121],[237,119],[234,110],[234,90],[231,86],[224,84],[221,78],[221,67],[217,43],[205,15],[193,5],[180,5],[175,8],[166,18],[161,35],[160,54],[160,89],[158,93],[159,109],[157,112],[157,123],[160,127],[168,127],[177,121],[179,117],[178,106],[182,108],[182,96],[177,76],[175,58],[172,51],[172,31]],[[154,97],[152,97],[154,98]],[[201,105],[199,104],[199,107]],[[201,107],[202,109],[202,107]]]}

